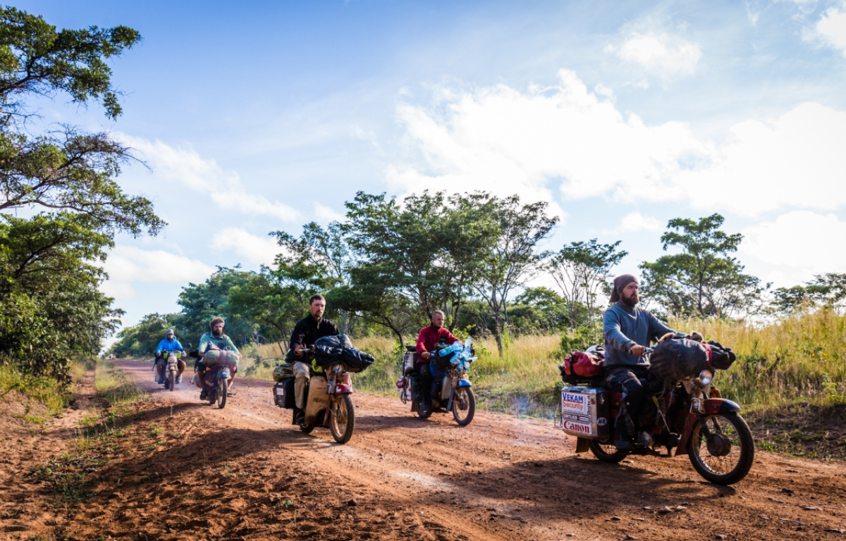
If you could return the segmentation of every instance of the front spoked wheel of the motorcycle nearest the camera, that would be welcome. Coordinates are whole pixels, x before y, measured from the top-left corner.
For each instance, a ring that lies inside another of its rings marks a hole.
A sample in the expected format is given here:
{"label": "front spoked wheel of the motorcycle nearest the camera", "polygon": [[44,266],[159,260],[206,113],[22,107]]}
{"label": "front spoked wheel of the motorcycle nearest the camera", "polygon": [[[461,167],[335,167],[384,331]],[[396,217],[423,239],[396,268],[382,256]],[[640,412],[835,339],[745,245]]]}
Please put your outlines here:
{"label": "front spoked wheel of the motorcycle nearest the camera", "polygon": [[695,470],[711,483],[734,484],[746,477],[755,461],[755,440],[737,413],[714,413],[694,424],[688,455]]}

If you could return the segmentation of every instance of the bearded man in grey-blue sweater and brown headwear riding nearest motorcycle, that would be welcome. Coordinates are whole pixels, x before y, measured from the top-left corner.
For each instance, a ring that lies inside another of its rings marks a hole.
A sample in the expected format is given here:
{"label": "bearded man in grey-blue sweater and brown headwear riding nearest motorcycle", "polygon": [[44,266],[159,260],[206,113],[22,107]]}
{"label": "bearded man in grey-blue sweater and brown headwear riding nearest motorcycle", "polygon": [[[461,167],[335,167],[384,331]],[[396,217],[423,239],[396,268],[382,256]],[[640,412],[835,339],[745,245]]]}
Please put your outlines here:
{"label": "bearded man in grey-blue sweater and brown headwear riding nearest motorcycle", "polygon": [[611,307],[602,315],[602,335],[605,336],[605,381],[616,391],[623,392],[616,421],[620,451],[634,448],[632,438],[637,435],[634,425],[640,417],[645,398],[644,382],[649,360],[644,357],[651,342],[673,332],[644,309],[637,308],[637,278],[630,274],[614,278]]}

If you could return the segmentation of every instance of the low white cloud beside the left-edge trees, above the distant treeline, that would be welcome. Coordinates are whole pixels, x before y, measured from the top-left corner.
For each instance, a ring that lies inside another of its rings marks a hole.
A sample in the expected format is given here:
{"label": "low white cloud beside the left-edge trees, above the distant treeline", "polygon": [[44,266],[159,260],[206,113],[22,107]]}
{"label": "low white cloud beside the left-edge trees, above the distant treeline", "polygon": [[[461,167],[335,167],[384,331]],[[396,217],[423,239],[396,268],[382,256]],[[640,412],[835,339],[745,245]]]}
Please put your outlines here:
{"label": "low white cloud beside the left-edge trees, above the distant treeline", "polygon": [[118,300],[135,297],[134,282],[185,283],[203,281],[215,269],[184,255],[165,250],[145,250],[135,246],[116,246],[108,255],[103,269],[108,280],[102,292]]}

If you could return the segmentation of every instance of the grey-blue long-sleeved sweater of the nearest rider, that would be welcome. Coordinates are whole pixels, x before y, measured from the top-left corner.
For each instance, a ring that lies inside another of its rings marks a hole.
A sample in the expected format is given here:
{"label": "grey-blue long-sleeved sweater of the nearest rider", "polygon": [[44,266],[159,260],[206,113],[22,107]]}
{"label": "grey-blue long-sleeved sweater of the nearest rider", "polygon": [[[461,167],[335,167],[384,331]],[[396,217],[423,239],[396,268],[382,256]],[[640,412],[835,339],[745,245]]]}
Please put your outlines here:
{"label": "grey-blue long-sleeved sweater of the nearest rider", "polygon": [[637,306],[629,308],[616,303],[602,315],[602,336],[605,337],[605,366],[642,365],[649,361],[629,353],[633,346],[649,347],[667,332],[675,332],[656,317]]}

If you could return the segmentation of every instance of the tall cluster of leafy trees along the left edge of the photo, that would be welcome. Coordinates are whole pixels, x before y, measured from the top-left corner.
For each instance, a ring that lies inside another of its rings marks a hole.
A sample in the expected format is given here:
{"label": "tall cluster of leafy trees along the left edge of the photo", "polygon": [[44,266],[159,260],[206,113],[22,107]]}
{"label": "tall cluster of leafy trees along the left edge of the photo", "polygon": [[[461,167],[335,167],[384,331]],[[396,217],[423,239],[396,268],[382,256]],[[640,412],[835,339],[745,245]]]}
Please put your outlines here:
{"label": "tall cluster of leafy trees along the left edge of the photo", "polygon": [[116,232],[164,225],[149,200],[115,182],[128,149],[69,125],[36,133],[42,124],[28,107],[33,97],[69,96],[117,118],[106,61],[139,40],[125,26],[56,30],[0,8],[0,365],[19,381],[64,383],[72,358],[99,352],[122,312],[100,292],[98,264]]}

